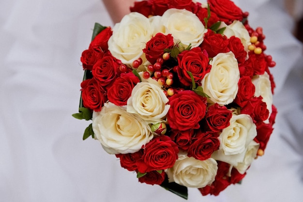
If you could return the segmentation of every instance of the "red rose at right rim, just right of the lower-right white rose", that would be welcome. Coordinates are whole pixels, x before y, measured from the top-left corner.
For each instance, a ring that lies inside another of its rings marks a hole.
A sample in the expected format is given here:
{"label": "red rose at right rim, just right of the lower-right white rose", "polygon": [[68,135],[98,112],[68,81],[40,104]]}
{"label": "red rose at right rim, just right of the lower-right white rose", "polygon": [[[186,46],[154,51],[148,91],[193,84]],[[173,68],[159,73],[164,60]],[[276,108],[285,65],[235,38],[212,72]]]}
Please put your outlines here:
{"label": "red rose at right rim, just right of the lower-right white rose", "polygon": [[263,122],[259,122],[257,124],[257,136],[255,141],[260,143],[259,149],[265,150],[267,142],[273,133],[273,125],[272,124],[264,124]]}

